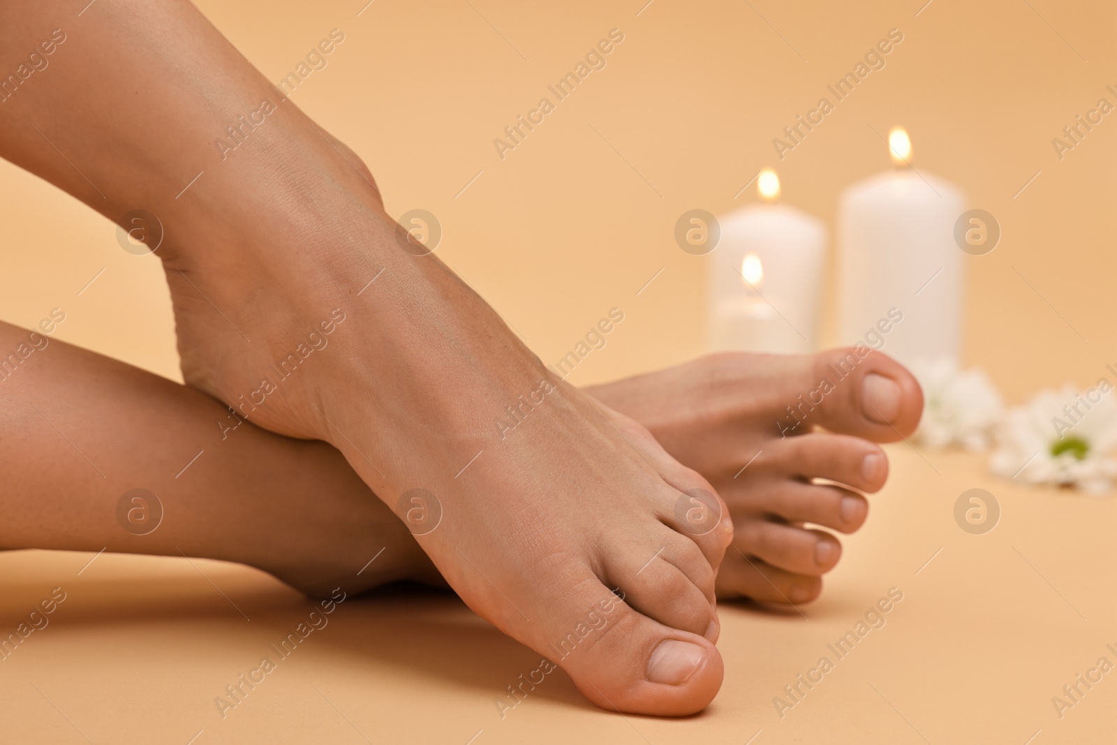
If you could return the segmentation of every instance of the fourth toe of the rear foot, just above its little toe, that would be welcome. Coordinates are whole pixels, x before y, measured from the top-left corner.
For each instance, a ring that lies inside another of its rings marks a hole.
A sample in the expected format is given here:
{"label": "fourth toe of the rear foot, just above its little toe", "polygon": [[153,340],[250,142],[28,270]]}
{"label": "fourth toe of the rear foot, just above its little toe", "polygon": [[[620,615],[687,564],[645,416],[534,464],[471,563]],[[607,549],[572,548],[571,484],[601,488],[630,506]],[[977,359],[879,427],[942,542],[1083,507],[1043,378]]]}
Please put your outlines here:
{"label": "fourth toe of the rear foot, just above its little toe", "polygon": [[742,553],[796,574],[824,574],[841,557],[838,538],[823,531],[746,518],[736,524],[733,543]]}

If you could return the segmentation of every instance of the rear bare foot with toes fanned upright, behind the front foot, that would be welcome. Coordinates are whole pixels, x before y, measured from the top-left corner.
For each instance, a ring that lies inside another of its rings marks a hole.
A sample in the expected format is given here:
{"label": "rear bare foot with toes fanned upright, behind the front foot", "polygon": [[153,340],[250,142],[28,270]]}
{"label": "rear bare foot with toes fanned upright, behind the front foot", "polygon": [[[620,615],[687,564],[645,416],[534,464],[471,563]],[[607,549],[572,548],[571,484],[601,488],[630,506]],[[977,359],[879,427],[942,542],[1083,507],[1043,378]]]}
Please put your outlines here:
{"label": "rear bare foot with toes fanned upright, behind the front foot", "polygon": [[853,350],[719,354],[589,392],[641,422],[728,504],[735,532],[718,599],[773,603],[819,595],[841,544],[804,524],[861,527],[869,510],[861,493],[877,491],[888,476],[873,442],[907,437],[923,412],[907,370],[880,352]]}

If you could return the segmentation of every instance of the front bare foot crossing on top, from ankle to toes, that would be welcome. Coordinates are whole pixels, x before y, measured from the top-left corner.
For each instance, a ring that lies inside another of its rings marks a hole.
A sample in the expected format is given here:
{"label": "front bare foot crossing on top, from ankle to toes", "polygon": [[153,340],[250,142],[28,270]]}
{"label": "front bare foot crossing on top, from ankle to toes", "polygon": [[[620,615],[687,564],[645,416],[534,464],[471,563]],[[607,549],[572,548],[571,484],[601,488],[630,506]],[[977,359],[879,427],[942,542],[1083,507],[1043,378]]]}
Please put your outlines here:
{"label": "front bare foot crossing on top, from ankle to toes", "polygon": [[[286,114],[259,136],[295,151],[283,168],[297,182],[257,179],[267,164],[246,157],[248,173],[227,172],[251,193],[208,193],[218,172],[175,207],[197,212],[164,218],[188,383],[273,431],[330,441],[400,517],[422,495],[441,518],[417,538],[450,586],[598,705],[704,708],[723,675],[714,575],[732,533],[710,486],[553,380],[437,258],[404,249],[363,173]],[[701,499],[715,518],[696,531]]]}

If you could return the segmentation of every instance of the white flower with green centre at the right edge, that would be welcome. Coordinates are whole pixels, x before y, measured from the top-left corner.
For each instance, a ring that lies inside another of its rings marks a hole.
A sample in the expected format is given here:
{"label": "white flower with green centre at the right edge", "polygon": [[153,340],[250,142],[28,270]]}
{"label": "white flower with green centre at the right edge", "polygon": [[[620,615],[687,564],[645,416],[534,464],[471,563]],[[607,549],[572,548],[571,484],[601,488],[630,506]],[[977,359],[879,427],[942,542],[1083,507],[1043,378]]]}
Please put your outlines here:
{"label": "white flower with green centre at the right edge", "polygon": [[1105,379],[1083,393],[1071,385],[1040,391],[1012,409],[997,432],[990,460],[994,474],[1031,484],[1109,491],[1117,477],[1117,402]]}

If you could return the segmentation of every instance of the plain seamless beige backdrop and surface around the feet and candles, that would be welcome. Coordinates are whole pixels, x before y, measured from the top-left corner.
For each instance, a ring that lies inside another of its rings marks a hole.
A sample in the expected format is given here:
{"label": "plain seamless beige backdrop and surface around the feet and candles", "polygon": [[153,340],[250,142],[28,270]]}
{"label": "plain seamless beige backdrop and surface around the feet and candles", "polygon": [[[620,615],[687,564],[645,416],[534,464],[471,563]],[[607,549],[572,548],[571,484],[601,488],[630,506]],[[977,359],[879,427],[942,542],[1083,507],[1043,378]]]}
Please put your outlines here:
{"label": "plain seamless beige backdrop and surface around the feet and candles", "polygon": [[[873,128],[897,123],[917,168],[961,185],[1003,230],[993,254],[966,259],[966,362],[1015,403],[1040,386],[1094,381],[1117,361],[1117,114],[1062,161],[1051,146],[1099,97],[1117,104],[1105,89],[1117,87],[1109,3],[933,0],[920,11],[919,1],[653,0],[641,11],[640,0],[375,0],[360,17],[363,0],[199,4],[276,82],[330,29],[345,32],[294,101],[364,157],[391,213],[439,217],[439,256],[544,361],[621,307],[624,323],[577,369],[577,383],[701,352],[705,271],[672,240],[681,212],[754,200],[751,189],[734,194],[775,164],[786,201],[832,232],[840,190],[888,168]],[[502,161],[493,139],[611,28],[626,38],[605,69]],[[891,28],[905,40],[887,67],[776,162],[772,139]],[[32,325],[61,307],[60,338],[178,379],[156,259],[124,252],[107,220],[11,165],[0,164],[0,317]],[[182,561],[105,555],[78,576],[87,556],[9,554],[0,557],[15,577],[0,611],[8,625],[50,588],[74,590],[26,653],[0,663],[10,668],[4,722],[51,742],[83,742],[59,709],[94,742],[122,743],[185,743],[198,729],[198,743],[362,742],[337,709],[373,742],[465,743],[477,729],[478,744],[534,742],[557,737],[560,720],[562,741],[743,743],[763,729],[757,744],[923,742],[920,733],[932,743],[1022,744],[1041,729],[1037,744],[1100,742],[1087,733],[1114,720],[1113,676],[1062,720],[1050,697],[1105,642],[1117,646],[1113,503],[986,481],[970,457],[932,453],[932,468],[904,446],[891,453],[894,480],[824,599],[803,609],[809,620],[725,611],[726,685],[696,720],[604,715],[554,677],[500,722],[491,699],[534,655],[456,603],[420,596],[346,604],[321,643],[309,640],[314,650],[284,662],[222,722],[212,697],[297,622],[306,610],[297,595],[200,563],[252,618],[245,622]],[[949,508],[981,485],[1004,517],[975,537]],[[772,696],[892,585],[906,599],[889,624],[781,722]]]}

